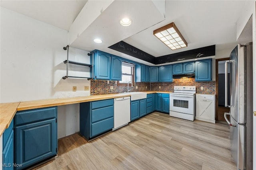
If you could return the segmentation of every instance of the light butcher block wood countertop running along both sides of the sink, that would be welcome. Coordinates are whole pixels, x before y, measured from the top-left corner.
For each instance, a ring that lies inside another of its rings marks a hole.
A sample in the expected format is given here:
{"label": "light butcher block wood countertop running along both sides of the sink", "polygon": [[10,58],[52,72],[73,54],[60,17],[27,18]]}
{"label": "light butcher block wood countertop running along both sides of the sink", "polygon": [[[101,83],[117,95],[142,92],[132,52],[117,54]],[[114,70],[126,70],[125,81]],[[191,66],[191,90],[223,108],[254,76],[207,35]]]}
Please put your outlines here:
{"label": "light butcher block wood countertop running along both sides of the sink", "polygon": [[[157,91],[146,91],[147,94],[153,93],[170,93],[170,92],[157,92]],[[77,104],[82,102],[92,102],[97,100],[106,100],[113,98],[122,98],[131,96],[130,94],[102,94],[94,96],[80,96],[72,98],[57,98],[57,99],[46,99],[46,100],[34,100],[28,102],[14,102],[14,103],[2,103],[0,104],[0,136],[6,128],[9,127],[16,111],[38,109],[51,106],[61,106],[67,104]]]}

